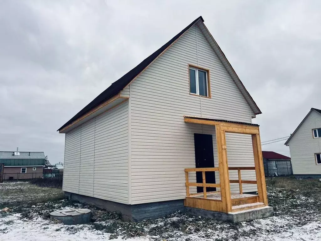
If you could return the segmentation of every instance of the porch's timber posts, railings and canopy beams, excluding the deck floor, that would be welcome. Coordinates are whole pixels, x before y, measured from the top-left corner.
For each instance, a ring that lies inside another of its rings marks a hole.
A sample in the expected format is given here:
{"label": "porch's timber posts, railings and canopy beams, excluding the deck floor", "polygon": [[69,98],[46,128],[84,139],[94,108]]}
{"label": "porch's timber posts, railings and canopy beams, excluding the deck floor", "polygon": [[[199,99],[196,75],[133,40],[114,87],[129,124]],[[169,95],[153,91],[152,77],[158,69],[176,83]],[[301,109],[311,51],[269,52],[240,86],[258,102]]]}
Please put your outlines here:
{"label": "porch's timber posts, railings and canopy beams, excluding the deck floor", "polygon": [[[267,206],[267,194],[266,194],[266,184],[265,184],[265,175],[263,168],[263,158],[262,158],[262,149],[261,149],[261,140],[260,140],[260,131],[259,125],[245,122],[237,122],[237,121],[227,121],[227,120],[217,120],[210,119],[204,117],[197,116],[184,116],[184,122],[193,123],[193,124],[203,124],[203,125],[212,125],[215,126],[216,132],[216,143],[217,143],[217,154],[218,154],[218,168],[186,168],[185,176],[186,176],[186,192],[187,197],[185,204],[186,206],[193,206],[193,200],[188,200],[188,198],[192,197],[193,194],[189,194],[189,186],[202,186],[203,187],[203,201],[196,201],[194,203],[195,207],[202,203],[203,206],[207,207],[204,209],[213,210],[213,211],[221,211],[221,212],[232,212],[232,201],[231,201],[231,193],[230,193],[230,183],[239,183],[240,193],[242,193],[242,183],[256,183],[257,184],[257,200],[262,203],[264,206]],[[253,146],[253,154],[254,154],[254,164],[255,167],[228,167],[227,160],[227,149],[226,149],[226,136],[225,133],[239,133],[239,134],[248,134],[252,136],[252,146]],[[256,181],[246,181],[241,180],[240,171],[241,170],[253,170],[255,169],[256,173]],[[238,170],[239,180],[230,180],[229,179],[229,170]],[[188,172],[202,172],[203,174],[203,183],[189,183],[188,182]],[[205,172],[210,171],[218,171],[220,176],[219,184],[211,184],[206,183],[205,180]],[[206,187],[219,187],[221,192],[220,200],[211,200],[212,203],[204,203],[206,200]],[[246,202],[243,202],[244,204]],[[198,207],[203,208],[203,207]],[[248,208],[246,208],[248,209]],[[236,210],[235,210],[236,211]]]}

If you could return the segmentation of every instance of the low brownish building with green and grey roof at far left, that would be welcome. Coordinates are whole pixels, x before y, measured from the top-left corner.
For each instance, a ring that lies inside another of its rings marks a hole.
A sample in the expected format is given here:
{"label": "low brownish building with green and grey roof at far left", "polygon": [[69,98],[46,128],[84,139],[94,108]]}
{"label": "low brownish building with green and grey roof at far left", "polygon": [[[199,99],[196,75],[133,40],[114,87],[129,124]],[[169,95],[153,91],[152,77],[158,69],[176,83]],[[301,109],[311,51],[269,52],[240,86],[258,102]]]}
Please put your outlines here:
{"label": "low brownish building with green and grey roof at far left", "polygon": [[43,152],[0,151],[0,164],[4,164],[4,180],[42,177],[45,165]]}

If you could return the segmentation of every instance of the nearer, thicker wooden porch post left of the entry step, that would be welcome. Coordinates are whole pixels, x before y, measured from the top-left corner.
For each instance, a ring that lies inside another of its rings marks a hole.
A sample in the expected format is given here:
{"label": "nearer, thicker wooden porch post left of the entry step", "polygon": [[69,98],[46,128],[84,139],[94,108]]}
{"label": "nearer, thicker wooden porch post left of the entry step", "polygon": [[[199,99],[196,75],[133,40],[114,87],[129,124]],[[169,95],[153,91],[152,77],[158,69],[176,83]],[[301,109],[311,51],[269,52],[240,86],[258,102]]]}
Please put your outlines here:
{"label": "nearer, thicker wooden porch post left of the entry step", "polygon": [[221,200],[223,211],[229,213],[232,211],[229,168],[227,164],[225,131],[221,130],[221,125],[215,125],[217,154],[219,159],[219,173],[221,186]]}

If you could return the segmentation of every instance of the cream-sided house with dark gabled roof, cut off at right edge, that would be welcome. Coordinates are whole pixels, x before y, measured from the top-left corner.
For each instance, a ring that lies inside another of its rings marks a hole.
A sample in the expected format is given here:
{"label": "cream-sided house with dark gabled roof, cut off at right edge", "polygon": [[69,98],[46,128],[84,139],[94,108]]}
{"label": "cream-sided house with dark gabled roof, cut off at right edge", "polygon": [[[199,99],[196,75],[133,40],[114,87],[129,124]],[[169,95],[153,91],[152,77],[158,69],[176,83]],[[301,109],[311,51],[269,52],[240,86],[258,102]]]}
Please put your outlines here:
{"label": "cream-sided house with dark gabled roof, cut off at right edge", "polygon": [[296,177],[321,177],[321,110],[311,108],[285,145]]}

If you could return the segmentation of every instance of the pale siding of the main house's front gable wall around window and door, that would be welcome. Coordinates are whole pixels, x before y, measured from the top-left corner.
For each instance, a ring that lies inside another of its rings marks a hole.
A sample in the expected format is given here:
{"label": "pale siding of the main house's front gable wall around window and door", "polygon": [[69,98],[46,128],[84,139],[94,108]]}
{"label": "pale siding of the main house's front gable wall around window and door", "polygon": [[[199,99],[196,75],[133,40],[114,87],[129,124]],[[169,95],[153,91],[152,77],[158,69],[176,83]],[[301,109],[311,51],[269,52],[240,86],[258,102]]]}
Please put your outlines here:
{"label": "pale siding of the main house's front gable wall around window and door", "polygon": [[[189,94],[188,64],[209,69],[212,98]],[[251,122],[249,105],[197,26],[131,83],[130,98],[131,204],[185,198],[184,168],[195,167],[194,133],[212,133],[217,163],[214,127],[187,124],[184,115]],[[254,166],[250,136],[228,134],[227,146],[230,166]],[[255,180],[255,173],[242,177]],[[256,191],[256,185],[244,188]]]}

